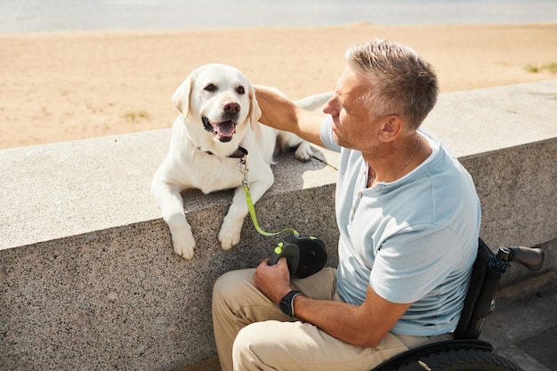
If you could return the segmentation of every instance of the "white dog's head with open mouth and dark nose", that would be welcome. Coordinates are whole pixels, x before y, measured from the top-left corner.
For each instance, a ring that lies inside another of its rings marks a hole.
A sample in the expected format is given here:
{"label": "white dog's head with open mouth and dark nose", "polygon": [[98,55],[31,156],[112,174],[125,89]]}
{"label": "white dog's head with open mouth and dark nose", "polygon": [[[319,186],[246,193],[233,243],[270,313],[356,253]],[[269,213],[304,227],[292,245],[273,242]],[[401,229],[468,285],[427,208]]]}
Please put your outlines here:
{"label": "white dog's head with open mouth and dark nose", "polygon": [[222,64],[194,69],[176,89],[173,102],[184,120],[200,125],[214,141],[232,141],[261,117],[254,86],[238,69]]}

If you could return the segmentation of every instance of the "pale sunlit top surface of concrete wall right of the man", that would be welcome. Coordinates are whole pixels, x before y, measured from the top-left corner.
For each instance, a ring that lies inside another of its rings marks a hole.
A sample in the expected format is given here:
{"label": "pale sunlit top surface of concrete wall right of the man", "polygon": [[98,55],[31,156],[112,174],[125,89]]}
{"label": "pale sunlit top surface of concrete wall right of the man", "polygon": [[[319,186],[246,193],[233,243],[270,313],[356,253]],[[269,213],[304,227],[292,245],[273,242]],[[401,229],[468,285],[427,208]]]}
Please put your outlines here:
{"label": "pale sunlit top surface of concrete wall right of the man", "polygon": [[441,94],[424,121],[461,157],[557,136],[557,80]]}

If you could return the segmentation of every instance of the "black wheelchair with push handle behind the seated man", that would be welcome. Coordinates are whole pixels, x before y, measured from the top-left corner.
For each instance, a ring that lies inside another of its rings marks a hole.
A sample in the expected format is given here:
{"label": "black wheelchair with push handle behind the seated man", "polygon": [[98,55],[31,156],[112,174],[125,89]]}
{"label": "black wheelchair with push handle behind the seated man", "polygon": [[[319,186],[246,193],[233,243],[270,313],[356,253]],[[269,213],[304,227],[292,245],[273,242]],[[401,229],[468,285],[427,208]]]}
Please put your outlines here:
{"label": "black wheelchair with push handle behind the seated man", "polygon": [[479,337],[484,319],[495,310],[496,292],[510,263],[540,270],[544,258],[543,250],[522,246],[500,247],[494,254],[480,238],[455,339],[405,351],[371,371],[523,371],[510,359],[494,353],[493,346]]}

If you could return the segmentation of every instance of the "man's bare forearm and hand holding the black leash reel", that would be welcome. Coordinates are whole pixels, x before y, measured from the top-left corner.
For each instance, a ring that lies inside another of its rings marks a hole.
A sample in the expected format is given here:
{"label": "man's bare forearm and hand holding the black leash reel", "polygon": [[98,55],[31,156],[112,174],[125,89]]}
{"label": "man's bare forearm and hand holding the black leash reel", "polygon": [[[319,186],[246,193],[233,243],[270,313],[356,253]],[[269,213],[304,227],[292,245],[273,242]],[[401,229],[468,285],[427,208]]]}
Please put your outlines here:
{"label": "man's bare forearm and hand holding the black leash reel", "polygon": [[[263,261],[254,274],[255,284],[270,300],[278,303],[290,290],[286,259],[269,266]],[[295,317],[311,323],[345,343],[374,348],[391,330],[411,303],[398,304],[383,299],[367,286],[362,305],[296,296]]]}

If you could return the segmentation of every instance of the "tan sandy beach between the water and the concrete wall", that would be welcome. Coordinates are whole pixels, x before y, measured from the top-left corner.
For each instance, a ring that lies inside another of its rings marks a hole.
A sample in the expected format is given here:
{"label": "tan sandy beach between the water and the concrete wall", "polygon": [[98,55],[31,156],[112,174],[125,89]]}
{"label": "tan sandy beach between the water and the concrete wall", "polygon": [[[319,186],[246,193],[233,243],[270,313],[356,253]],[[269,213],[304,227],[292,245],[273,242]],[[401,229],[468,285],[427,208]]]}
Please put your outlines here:
{"label": "tan sandy beach between the water and the concrete wall", "polygon": [[557,78],[526,69],[557,62],[556,35],[557,23],[0,34],[0,149],[170,127],[174,90],[208,62],[297,99],[332,90],[346,48],[379,37],[416,49],[449,93]]}

